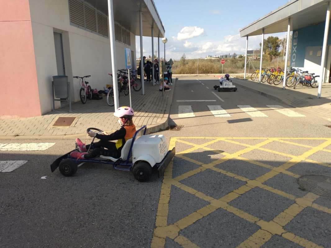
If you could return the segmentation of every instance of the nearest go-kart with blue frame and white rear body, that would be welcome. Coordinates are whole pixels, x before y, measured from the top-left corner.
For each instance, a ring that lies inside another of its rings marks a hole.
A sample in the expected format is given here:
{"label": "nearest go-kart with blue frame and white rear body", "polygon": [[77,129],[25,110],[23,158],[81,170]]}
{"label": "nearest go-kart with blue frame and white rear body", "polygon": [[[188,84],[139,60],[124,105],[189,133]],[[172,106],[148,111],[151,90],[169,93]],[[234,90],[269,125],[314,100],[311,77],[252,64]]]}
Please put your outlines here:
{"label": "nearest go-kart with blue frame and white rear body", "polygon": [[[142,129],[144,129],[144,134],[136,139],[136,136]],[[97,128],[88,128],[87,133],[91,132],[101,134],[103,131]],[[175,147],[168,151],[166,138],[163,135],[145,134],[146,126],[138,129],[133,138],[125,142],[120,158],[100,155],[95,158],[77,160],[70,156],[72,151],[78,150],[76,146],[74,150],[57,158],[51,164],[51,171],[54,172],[59,167],[62,175],[70,177],[77,172],[79,166],[89,162],[109,164],[116,170],[131,171],[134,178],[140,182],[147,181],[151,177],[153,170],[158,170],[159,177],[163,176],[166,167],[175,155]],[[93,149],[94,139],[90,145],[91,149]]]}

